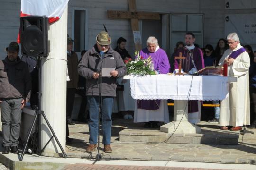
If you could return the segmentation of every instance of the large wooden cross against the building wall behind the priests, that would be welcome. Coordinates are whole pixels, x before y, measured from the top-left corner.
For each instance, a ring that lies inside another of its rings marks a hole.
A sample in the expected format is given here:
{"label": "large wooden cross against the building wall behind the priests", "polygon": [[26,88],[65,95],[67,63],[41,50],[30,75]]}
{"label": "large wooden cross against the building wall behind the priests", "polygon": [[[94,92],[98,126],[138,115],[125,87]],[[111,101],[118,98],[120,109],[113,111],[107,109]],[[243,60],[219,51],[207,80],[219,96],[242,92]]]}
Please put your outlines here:
{"label": "large wooden cross against the building wall behind the priests", "polygon": [[[139,19],[160,20],[160,14],[157,12],[137,12],[136,0],[128,0],[129,11],[108,10],[109,18],[131,19],[132,31],[139,31]],[[141,44],[135,43],[135,51],[141,50]]]}

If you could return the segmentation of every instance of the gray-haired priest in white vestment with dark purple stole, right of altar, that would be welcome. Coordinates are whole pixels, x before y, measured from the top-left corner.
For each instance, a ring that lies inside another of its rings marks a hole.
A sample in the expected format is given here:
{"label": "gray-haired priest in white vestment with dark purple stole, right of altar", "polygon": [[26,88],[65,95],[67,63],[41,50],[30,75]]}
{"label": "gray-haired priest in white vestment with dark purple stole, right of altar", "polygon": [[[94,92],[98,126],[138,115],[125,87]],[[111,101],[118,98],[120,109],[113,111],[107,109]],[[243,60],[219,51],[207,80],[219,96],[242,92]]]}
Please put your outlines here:
{"label": "gray-haired priest in white vestment with dark purple stole, right of altar", "polygon": [[249,67],[250,57],[240,45],[236,33],[227,36],[229,49],[219,61],[228,65],[228,76],[236,76],[237,82],[229,83],[229,94],[220,103],[219,123],[222,130],[241,130],[250,124]]}

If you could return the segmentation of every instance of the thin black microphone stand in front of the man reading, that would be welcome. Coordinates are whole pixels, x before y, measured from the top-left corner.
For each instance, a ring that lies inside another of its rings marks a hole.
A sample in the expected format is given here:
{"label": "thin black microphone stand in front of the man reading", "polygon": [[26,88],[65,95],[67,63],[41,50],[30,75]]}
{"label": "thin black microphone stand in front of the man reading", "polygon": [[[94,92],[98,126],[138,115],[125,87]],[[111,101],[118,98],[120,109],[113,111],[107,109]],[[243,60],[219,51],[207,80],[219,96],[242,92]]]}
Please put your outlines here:
{"label": "thin black microphone stand in front of the man reading", "polygon": [[[101,96],[101,83],[102,83],[102,62],[103,62],[103,57],[104,57],[104,53],[101,51],[100,52],[100,58],[101,58],[101,66],[100,66],[100,71],[99,71],[99,77],[98,80],[100,80],[99,83],[99,118],[98,118],[98,149],[97,149],[97,154],[95,156],[95,161],[92,163],[93,165],[97,162],[97,161],[101,161],[102,159],[102,155],[100,153],[100,118],[102,117],[102,96]],[[101,113],[101,116],[100,116]],[[101,121],[101,123],[103,122],[103,120]],[[103,126],[102,126],[103,127]]]}

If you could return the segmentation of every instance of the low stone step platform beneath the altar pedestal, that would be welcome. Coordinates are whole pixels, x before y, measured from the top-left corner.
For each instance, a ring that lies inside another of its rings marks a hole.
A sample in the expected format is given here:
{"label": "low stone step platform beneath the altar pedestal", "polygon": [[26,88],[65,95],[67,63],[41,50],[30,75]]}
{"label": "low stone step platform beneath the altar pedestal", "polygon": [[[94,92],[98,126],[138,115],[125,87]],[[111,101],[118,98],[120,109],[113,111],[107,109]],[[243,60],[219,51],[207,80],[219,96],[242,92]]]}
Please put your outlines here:
{"label": "low stone step platform beneath the altar pedestal", "polygon": [[[203,123],[202,123],[203,124]],[[124,129],[119,132],[120,142],[148,142],[169,144],[238,144],[239,131],[219,130],[204,125],[201,133],[176,134],[161,132],[159,129]],[[218,127],[218,126],[216,126]]]}

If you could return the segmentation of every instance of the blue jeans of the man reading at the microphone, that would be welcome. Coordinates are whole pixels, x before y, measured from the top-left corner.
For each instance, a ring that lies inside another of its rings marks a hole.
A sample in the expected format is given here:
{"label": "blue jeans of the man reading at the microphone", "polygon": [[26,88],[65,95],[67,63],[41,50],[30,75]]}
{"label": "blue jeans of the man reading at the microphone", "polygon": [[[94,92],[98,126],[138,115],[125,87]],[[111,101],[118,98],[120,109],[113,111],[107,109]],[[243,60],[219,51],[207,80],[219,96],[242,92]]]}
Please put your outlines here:
{"label": "blue jeans of the man reading at the microphone", "polygon": [[[89,143],[97,144],[98,141],[98,127],[99,127],[99,96],[87,96],[89,104]],[[110,144],[111,142],[111,126],[112,126],[112,106],[113,97],[102,96],[102,132],[103,144]]]}

